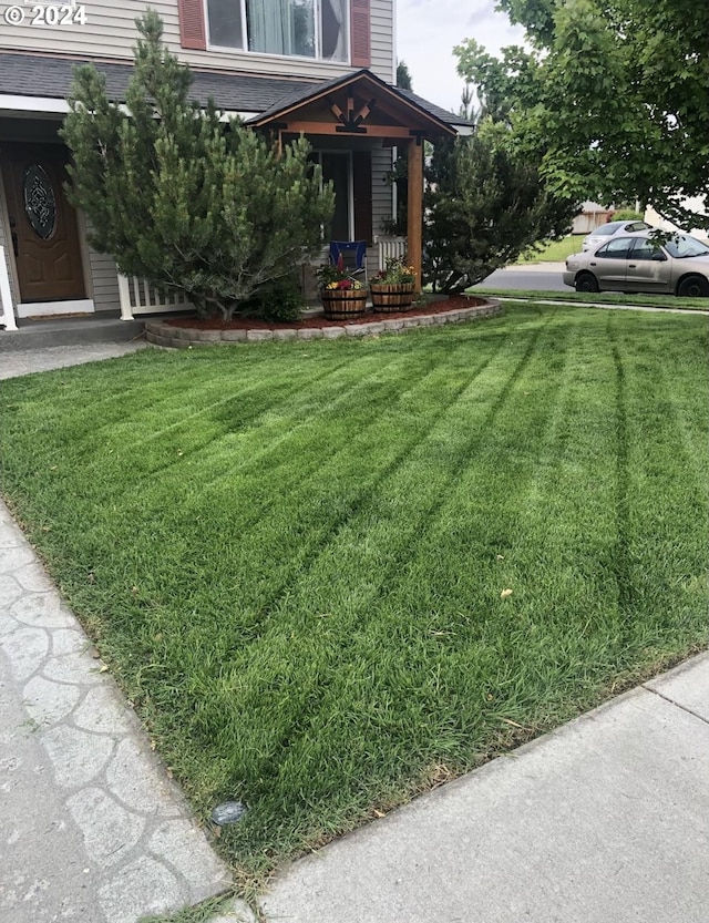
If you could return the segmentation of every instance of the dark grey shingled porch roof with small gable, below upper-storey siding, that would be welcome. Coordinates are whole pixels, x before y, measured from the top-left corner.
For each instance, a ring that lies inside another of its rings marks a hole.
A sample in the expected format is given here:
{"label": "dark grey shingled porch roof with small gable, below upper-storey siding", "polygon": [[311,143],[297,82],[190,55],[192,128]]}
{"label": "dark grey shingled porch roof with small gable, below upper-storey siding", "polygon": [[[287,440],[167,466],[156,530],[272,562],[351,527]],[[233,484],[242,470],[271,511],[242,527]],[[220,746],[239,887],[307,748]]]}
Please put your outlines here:
{"label": "dark grey shingled porch roof with small gable, below upper-storey siding", "polygon": [[[65,100],[71,88],[72,69],[89,62],[95,64],[105,76],[109,96],[114,102],[125,102],[125,90],[133,70],[129,63],[13,51],[0,51],[0,98]],[[446,112],[415,93],[389,86],[369,71],[353,71],[335,81],[261,76],[194,68],[192,73],[194,99],[201,103],[213,99],[219,109],[239,113],[254,124],[260,122],[261,116],[278,113],[295,102],[318,98],[330,84],[339,86],[358,74],[367,74],[387,91],[408,102],[421,115],[429,116],[432,123],[439,122],[453,129],[471,127],[471,123],[464,119]],[[4,107],[0,102],[0,109]],[[22,109],[28,111],[27,106]]]}

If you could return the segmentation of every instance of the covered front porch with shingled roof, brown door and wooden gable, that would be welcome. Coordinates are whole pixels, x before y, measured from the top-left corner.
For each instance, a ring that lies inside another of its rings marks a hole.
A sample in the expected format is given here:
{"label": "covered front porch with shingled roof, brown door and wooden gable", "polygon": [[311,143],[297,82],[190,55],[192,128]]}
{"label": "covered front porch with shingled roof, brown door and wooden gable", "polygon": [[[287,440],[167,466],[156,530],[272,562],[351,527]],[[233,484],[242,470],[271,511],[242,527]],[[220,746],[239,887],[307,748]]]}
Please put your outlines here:
{"label": "covered front porch with shingled roof, brown door and wooden gable", "polygon": [[[89,224],[73,213],[62,188],[69,152],[58,130],[69,109],[72,62],[27,57],[37,84],[28,84],[27,93],[33,95],[10,96],[13,68],[24,58],[0,53],[0,327],[10,330],[16,318],[38,315],[113,311],[130,320],[188,309],[179,294],[164,296],[143,279],[120,276],[112,257],[89,245]],[[112,98],[124,101],[130,65],[97,66]],[[38,95],[50,84],[51,98]],[[279,145],[305,135],[336,189],[336,215],[326,236],[364,242],[368,275],[383,268],[388,257],[408,253],[420,284],[424,143],[467,133],[470,123],[368,70],[329,81],[195,72],[193,89],[199,101],[214,99],[225,115],[240,115]],[[391,237],[386,228],[395,212],[388,175],[397,154],[408,161],[405,237]],[[28,211],[30,174],[34,205]],[[327,254],[326,247],[320,261]],[[312,269],[304,268],[304,278],[310,273],[311,296]]]}

